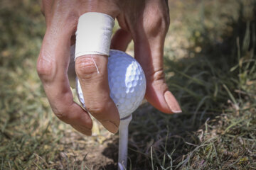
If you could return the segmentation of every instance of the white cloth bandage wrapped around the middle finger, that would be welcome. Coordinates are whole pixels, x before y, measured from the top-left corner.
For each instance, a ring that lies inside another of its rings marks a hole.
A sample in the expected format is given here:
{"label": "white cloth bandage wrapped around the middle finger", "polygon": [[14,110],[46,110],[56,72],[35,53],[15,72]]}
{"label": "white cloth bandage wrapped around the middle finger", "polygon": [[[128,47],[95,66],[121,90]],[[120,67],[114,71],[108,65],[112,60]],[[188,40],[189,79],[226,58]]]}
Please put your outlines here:
{"label": "white cloth bandage wrapped around the middle finger", "polygon": [[114,19],[105,13],[84,13],[75,33],[75,59],[82,55],[109,55]]}

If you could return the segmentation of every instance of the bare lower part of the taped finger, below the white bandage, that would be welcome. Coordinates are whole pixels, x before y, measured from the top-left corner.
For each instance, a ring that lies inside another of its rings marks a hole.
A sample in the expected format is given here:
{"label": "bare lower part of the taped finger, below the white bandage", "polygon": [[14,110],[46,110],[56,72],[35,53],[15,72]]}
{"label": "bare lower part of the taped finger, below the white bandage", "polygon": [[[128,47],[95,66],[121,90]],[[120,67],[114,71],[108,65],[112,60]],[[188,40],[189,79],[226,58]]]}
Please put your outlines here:
{"label": "bare lower part of the taped finger, below the white bandage", "polygon": [[85,55],[75,60],[75,71],[80,81],[85,106],[110,132],[117,132],[119,113],[110,98],[107,79],[107,56]]}

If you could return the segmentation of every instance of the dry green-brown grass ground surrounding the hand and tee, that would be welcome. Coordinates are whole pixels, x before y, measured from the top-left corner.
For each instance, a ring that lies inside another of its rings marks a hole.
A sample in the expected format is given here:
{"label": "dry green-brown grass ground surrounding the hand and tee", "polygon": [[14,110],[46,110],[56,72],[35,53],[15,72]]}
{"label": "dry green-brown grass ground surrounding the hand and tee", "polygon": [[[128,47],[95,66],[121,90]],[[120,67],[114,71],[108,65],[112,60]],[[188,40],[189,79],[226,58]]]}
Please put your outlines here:
{"label": "dry green-brown grass ground surrounding the hand and tee", "polygon": [[[50,110],[36,74],[38,4],[0,6],[0,169],[116,169],[117,135],[95,121],[85,137]],[[170,1],[166,81],[183,113],[144,103],[133,114],[128,169],[256,169],[253,10],[253,0]]]}

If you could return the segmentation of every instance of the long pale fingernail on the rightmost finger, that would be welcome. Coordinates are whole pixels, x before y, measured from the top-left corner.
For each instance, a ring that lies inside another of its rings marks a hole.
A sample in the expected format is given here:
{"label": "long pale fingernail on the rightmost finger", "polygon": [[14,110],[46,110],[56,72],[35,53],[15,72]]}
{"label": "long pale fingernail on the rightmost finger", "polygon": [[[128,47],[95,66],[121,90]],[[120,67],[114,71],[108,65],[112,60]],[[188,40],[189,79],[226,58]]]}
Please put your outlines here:
{"label": "long pale fingernail on the rightmost finger", "polygon": [[171,94],[170,91],[166,91],[164,93],[164,98],[166,100],[167,105],[171,109],[171,112],[173,113],[182,113],[181,107],[178,104],[178,101],[176,101],[176,98],[173,94]]}

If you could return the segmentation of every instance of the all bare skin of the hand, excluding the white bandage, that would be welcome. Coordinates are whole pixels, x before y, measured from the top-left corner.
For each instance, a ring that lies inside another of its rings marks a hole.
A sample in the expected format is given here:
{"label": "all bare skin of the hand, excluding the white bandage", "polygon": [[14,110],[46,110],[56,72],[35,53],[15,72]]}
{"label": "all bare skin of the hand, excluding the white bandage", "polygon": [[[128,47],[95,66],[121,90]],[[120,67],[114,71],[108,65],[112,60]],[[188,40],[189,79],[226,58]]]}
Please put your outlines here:
{"label": "all bare skin of the hand, excluding the white bandage", "polygon": [[[43,0],[46,34],[37,62],[37,72],[43,83],[53,113],[63,122],[85,135],[92,133],[90,115],[73,101],[68,81],[70,45],[78,18],[86,12],[106,13],[117,18],[117,30],[111,48],[125,51],[134,40],[134,55],[146,75],[145,98],[164,113],[181,113],[176,98],[164,81],[164,39],[169,28],[169,8],[164,0]],[[110,132],[117,132],[119,113],[110,98],[107,82],[107,56],[94,55],[100,74],[90,55],[75,60],[75,72],[80,80],[88,111]]]}

